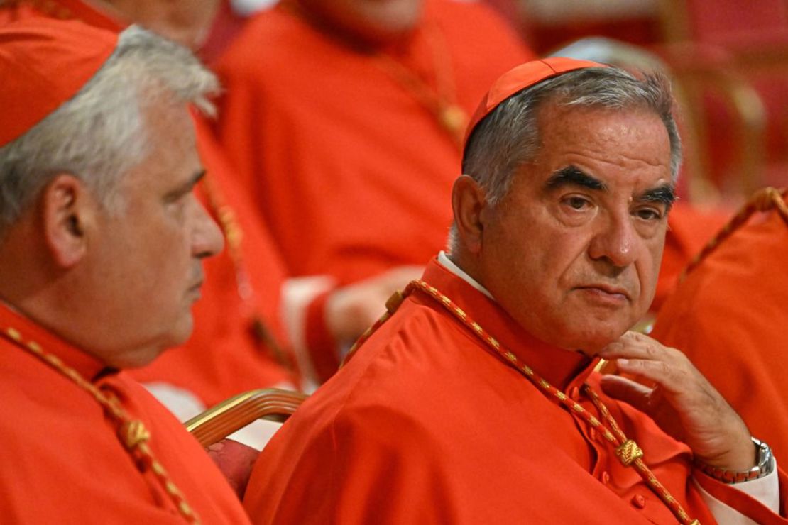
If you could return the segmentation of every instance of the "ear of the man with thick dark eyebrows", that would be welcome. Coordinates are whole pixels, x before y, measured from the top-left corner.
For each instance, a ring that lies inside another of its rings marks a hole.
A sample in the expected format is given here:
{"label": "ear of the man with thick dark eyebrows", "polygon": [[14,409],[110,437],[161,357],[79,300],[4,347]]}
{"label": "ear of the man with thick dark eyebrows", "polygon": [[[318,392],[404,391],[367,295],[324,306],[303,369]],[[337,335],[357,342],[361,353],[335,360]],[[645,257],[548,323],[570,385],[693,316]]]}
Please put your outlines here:
{"label": "ear of the man with thick dark eyebrows", "polygon": [[455,180],[452,187],[454,224],[463,248],[469,253],[481,251],[486,206],[486,192],[478,182],[467,175],[459,176]]}

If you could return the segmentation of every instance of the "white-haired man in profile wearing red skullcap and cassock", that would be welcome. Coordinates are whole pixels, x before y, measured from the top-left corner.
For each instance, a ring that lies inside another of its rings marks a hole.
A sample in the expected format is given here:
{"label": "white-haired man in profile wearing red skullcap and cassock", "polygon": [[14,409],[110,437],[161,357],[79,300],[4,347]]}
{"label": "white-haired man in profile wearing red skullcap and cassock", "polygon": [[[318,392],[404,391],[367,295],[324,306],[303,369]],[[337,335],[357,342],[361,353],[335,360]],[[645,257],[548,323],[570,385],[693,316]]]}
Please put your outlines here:
{"label": "white-haired man in profile wearing red skullcap and cassock", "polygon": [[0,28],[0,514],[246,523],[180,423],[122,372],[191,334],[217,225],[190,105],[217,82],[139,28]]}

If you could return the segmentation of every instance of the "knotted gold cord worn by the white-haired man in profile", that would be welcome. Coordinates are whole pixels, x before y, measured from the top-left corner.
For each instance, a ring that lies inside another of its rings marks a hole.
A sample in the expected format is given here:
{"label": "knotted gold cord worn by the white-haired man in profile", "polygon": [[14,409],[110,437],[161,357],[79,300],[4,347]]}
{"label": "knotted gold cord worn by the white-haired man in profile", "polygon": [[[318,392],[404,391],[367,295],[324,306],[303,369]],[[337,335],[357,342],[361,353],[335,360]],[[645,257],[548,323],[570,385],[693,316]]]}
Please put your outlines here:
{"label": "knotted gold cord worn by the white-haired man in profile", "polygon": [[132,418],[128,416],[128,413],[121,407],[116,397],[111,394],[105,394],[102,390],[99,390],[93,383],[84,379],[84,377],[80,375],[80,372],[76,372],[74,368],[65,364],[60,357],[45,352],[35,341],[24,342],[22,335],[16,329],[6,327],[2,335],[5,335],[6,338],[16,343],[21,349],[26,350],[28,353],[32,353],[32,355],[38,357],[62,375],[71,379],[73,383],[76,383],[76,386],[79,386],[82,390],[90,394],[95,401],[102,406],[104,412],[114,420],[117,426],[117,438],[134,460],[137,469],[140,472],[144,472],[150,468],[155,478],[158,480],[159,485],[162,486],[162,489],[165,490],[170,500],[175,504],[180,515],[183,516],[188,523],[200,523],[197,513],[188,504],[184,495],[181,494],[178,487],[172,479],[169,478],[169,474],[167,474],[165,468],[158,462],[150,447],[147,446],[147,442],[151,438],[151,433],[147,431],[142,421],[132,420]]}

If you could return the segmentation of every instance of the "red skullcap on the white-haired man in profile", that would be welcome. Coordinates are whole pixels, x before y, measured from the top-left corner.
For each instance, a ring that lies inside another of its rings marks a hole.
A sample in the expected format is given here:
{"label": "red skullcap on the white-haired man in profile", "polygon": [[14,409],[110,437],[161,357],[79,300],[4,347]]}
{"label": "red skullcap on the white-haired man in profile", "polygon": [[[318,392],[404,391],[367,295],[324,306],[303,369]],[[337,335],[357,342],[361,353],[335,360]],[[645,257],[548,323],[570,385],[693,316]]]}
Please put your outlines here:
{"label": "red skullcap on the white-haired man in profile", "polygon": [[117,35],[76,21],[0,27],[0,147],[68,102],[117,45]]}

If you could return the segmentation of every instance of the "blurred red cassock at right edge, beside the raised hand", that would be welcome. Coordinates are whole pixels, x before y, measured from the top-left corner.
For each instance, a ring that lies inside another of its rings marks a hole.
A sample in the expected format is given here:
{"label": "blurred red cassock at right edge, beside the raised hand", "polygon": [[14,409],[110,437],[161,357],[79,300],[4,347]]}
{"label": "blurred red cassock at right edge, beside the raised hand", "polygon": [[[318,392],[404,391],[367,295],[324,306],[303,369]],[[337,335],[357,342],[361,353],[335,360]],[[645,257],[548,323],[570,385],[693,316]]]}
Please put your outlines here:
{"label": "blurred red cassock at right edge, beside the raised hand", "polygon": [[[788,207],[786,207],[788,209]],[[652,336],[686,353],[788,464],[788,212],[757,213],[704,257]]]}

